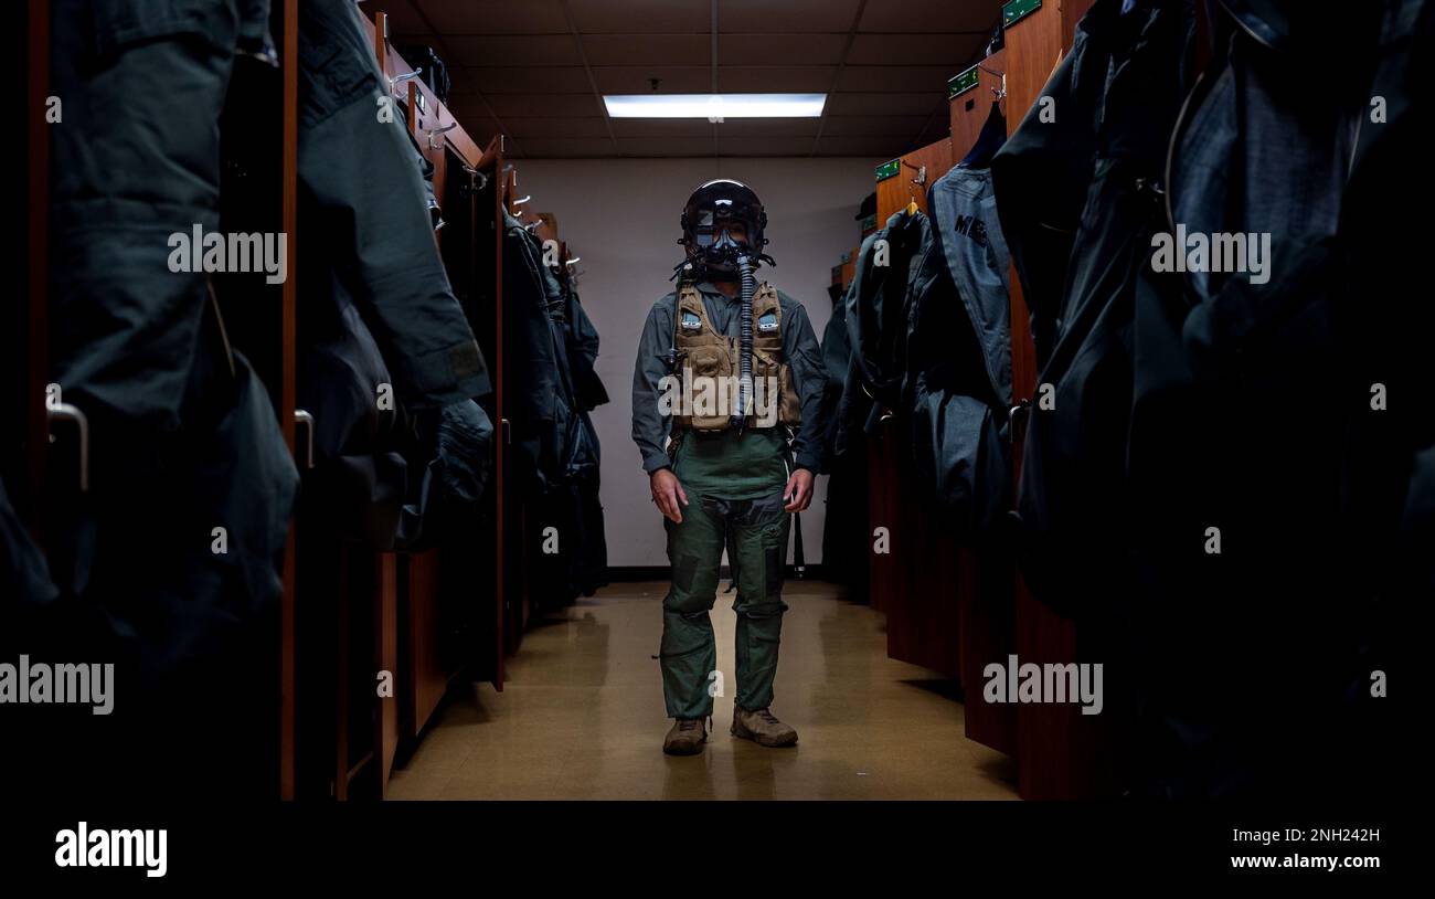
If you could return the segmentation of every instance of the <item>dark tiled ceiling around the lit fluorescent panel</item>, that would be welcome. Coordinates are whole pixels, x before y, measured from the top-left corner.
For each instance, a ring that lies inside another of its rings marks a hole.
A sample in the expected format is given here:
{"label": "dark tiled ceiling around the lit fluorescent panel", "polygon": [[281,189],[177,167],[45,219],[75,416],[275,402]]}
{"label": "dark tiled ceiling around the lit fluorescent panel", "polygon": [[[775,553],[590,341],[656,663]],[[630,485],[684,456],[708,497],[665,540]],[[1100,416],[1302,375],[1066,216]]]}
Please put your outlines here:
{"label": "dark tiled ceiling around the lit fluorescent panel", "polygon": [[821,155],[891,157],[944,131],[946,82],[976,59],[1000,17],[1000,0],[719,0],[718,89],[828,92],[825,118],[607,121],[583,63],[603,93],[653,93],[654,78],[657,93],[706,93],[712,9],[713,0],[360,6],[370,19],[390,14],[395,43],[439,52],[453,80],[449,108],[475,141],[502,122],[514,152],[530,157],[613,155],[610,134],[624,155],[710,157],[715,131],[722,155],[809,155],[815,146]]}

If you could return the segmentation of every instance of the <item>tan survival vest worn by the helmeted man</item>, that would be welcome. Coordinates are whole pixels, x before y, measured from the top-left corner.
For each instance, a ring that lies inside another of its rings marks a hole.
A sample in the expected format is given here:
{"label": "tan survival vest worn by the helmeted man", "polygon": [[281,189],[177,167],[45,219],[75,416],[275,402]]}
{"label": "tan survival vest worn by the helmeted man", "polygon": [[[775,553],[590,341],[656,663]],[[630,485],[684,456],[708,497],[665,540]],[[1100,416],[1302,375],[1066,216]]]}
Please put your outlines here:
{"label": "tan survival vest worn by the helmeted man", "polygon": [[[674,429],[726,431],[730,415],[738,411],[742,340],[718,333],[702,294],[692,284],[677,292],[673,346],[682,360],[682,405],[674,406]],[[752,297],[752,383],[745,428],[779,424],[796,428],[802,424],[802,402],[792,385],[792,369],[782,360],[782,303],[776,289],[766,281]],[[776,399],[769,385],[776,385]],[[690,401],[697,402],[689,405]],[[776,421],[771,421],[773,402]],[[705,414],[696,414],[699,411]]]}

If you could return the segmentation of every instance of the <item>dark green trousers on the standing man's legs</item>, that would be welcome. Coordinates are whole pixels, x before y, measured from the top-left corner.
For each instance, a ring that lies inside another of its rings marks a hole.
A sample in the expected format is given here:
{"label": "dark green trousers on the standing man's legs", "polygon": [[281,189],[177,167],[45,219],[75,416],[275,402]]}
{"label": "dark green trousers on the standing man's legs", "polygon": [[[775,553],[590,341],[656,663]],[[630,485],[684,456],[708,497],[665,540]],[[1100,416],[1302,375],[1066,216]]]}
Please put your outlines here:
{"label": "dark green trousers on the standing man's legs", "polygon": [[713,711],[709,675],[718,645],[709,612],[718,599],[723,547],[738,582],[738,695],[746,709],[772,704],[782,638],[782,567],[791,520],[782,488],[756,500],[689,493],[683,523],[667,527],[673,584],[663,599],[663,698],[669,718],[706,718]]}

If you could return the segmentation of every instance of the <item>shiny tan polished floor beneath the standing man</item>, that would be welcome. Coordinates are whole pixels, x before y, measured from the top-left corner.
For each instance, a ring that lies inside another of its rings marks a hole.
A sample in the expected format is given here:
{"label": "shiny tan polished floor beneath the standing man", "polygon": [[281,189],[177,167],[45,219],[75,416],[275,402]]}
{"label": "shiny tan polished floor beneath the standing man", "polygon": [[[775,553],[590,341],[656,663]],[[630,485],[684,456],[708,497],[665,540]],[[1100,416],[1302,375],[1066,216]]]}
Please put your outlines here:
{"label": "shiny tan polished floor beneath the standing man", "polygon": [[666,583],[620,583],[531,630],[489,684],[452,702],[389,798],[1015,798],[1010,758],[963,735],[954,686],[887,658],[883,615],[788,582],[772,711],[794,748],[729,735],[732,595],[713,609],[726,675],[702,755],[662,751]]}

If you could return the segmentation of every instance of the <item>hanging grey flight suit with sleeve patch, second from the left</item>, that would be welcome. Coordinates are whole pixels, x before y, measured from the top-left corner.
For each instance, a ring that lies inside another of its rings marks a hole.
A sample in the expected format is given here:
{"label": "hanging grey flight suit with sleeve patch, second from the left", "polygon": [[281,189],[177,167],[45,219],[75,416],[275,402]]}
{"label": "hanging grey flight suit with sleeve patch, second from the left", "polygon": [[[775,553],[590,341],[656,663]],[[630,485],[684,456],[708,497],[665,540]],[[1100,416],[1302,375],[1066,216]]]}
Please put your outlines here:
{"label": "hanging grey flight suit with sleeve patch, second from the left", "polygon": [[[433,243],[433,164],[385,106],[353,4],[300,10],[301,405],[314,416],[306,507],[373,550],[441,541],[478,517],[492,424],[482,353]],[[310,231],[306,230],[306,234]],[[380,408],[382,385],[389,385]],[[442,511],[428,520],[429,510]]]}

